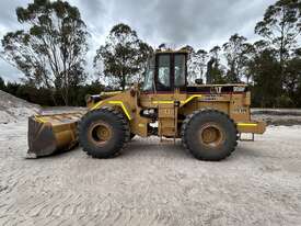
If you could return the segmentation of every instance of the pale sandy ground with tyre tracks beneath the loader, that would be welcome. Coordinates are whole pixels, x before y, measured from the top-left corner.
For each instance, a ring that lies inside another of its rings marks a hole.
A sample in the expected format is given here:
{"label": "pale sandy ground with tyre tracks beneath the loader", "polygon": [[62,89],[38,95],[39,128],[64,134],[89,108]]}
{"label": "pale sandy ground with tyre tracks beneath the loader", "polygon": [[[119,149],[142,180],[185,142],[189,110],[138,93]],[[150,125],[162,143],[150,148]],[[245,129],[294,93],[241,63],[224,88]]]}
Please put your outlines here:
{"label": "pale sandy ground with tyre tracks beneath the loader", "polygon": [[26,160],[26,129],[0,124],[0,225],[300,225],[301,126],[270,126],[221,162],[154,137],[109,160]]}

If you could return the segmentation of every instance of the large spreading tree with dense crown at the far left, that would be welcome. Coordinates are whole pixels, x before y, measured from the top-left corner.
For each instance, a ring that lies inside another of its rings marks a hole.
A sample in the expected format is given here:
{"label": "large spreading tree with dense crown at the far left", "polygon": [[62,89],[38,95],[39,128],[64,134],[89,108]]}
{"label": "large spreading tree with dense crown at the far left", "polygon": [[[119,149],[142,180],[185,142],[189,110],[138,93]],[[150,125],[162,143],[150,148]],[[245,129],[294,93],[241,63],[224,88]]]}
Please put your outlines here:
{"label": "large spreading tree with dense crown at the far left", "polygon": [[3,37],[3,57],[24,74],[27,83],[55,89],[68,105],[71,87],[86,78],[88,32],[78,8],[67,1],[34,0],[18,8],[16,15],[28,30]]}

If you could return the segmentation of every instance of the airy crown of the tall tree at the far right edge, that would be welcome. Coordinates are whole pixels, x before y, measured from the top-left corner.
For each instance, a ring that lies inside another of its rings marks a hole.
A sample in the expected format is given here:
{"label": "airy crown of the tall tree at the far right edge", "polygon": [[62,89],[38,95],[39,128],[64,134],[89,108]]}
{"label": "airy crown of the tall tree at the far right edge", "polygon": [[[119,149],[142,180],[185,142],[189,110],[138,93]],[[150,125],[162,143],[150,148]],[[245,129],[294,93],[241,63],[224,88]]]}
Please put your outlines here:
{"label": "airy crown of the tall tree at the far right edge", "polygon": [[255,27],[255,33],[265,37],[277,49],[281,77],[286,60],[296,48],[301,34],[300,4],[300,0],[278,0],[266,10],[263,21]]}

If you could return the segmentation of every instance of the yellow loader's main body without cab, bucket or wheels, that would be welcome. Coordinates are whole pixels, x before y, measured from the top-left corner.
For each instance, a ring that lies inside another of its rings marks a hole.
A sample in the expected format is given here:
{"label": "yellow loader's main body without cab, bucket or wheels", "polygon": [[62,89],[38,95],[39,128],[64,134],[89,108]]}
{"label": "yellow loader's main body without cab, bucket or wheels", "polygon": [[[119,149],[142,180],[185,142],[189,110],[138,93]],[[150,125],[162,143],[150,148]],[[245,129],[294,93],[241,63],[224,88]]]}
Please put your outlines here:
{"label": "yellow loader's main body without cab, bucket or wheels", "polygon": [[[130,123],[130,132],[141,137],[150,136],[149,125],[155,123],[154,118],[141,115],[144,110],[158,111],[158,135],[167,138],[180,138],[180,128],[183,120],[199,109],[213,109],[230,116],[236,124],[239,133],[263,134],[266,129],[264,122],[252,121],[251,118],[251,93],[217,93],[219,88],[241,88],[245,84],[220,84],[204,86],[210,87],[210,93],[143,93],[138,89],[116,94],[99,102],[89,102],[90,111],[103,106],[116,108],[124,112]],[[182,118],[180,118],[180,115]]]}

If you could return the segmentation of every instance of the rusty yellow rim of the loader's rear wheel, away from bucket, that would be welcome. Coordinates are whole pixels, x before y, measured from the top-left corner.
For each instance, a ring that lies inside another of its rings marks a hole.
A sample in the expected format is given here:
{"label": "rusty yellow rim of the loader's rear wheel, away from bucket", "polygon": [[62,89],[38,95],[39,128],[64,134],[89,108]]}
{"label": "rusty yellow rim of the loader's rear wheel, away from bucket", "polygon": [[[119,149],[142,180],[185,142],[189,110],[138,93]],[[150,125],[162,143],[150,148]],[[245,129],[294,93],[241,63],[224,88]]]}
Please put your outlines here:
{"label": "rusty yellow rim of the loader's rear wheel, away from bucket", "polygon": [[199,139],[202,145],[217,148],[224,143],[225,135],[219,125],[208,123],[200,128]]}

